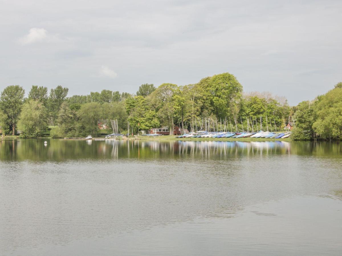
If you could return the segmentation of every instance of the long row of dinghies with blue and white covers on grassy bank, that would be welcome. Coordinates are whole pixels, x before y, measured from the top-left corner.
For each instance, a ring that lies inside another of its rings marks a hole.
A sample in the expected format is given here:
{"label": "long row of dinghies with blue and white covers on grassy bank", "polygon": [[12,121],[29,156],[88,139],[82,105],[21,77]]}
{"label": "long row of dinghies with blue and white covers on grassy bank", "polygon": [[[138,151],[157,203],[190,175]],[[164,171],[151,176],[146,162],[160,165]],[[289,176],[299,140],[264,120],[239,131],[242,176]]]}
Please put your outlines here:
{"label": "long row of dinghies with blue and white covers on grassy bank", "polygon": [[176,138],[269,138],[284,139],[291,136],[290,132],[207,132],[197,131],[177,136]]}

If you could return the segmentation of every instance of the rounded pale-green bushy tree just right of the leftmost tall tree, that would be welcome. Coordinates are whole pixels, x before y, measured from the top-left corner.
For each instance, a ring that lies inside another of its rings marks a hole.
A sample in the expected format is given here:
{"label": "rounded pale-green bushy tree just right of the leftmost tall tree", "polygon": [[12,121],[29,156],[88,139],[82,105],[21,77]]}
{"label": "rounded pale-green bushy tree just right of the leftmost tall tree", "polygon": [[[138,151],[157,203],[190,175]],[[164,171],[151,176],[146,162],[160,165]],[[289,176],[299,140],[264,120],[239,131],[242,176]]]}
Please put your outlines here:
{"label": "rounded pale-green bushy tree just right of the leftmost tall tree", "polygon": [[25,138],[42,136],[43,132],[47,129],[47,110],[42,102],[28,100],[23,104],[18,128],[23,131]]}

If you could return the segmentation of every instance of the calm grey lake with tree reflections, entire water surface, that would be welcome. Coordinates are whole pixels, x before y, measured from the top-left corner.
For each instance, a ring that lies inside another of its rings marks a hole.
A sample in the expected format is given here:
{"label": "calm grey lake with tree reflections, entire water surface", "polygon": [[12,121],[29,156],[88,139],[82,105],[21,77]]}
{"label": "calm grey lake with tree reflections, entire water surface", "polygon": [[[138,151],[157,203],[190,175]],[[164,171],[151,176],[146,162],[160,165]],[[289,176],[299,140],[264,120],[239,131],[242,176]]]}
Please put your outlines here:
{"label": "calm grey lake with tree reflections, entire water surface", "polygon": [[0,255],[341,255],[342,143],[0,140]]}

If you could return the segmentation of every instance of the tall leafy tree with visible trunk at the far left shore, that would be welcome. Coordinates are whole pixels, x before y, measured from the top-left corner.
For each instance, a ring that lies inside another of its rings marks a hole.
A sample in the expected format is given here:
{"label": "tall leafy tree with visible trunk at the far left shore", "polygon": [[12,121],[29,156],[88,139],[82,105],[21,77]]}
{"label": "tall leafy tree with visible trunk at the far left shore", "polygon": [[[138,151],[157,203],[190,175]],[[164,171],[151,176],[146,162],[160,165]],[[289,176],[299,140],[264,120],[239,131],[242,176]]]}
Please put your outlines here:
{"label": "tall leafy tree with visible trunk at the far left shore", "polygon": [[15,134],[15,128],[23,106],[25,90],[19,85],[7,86],[0,96],[0,108],[7,116],[8,124],[12,128],[12,135]]}

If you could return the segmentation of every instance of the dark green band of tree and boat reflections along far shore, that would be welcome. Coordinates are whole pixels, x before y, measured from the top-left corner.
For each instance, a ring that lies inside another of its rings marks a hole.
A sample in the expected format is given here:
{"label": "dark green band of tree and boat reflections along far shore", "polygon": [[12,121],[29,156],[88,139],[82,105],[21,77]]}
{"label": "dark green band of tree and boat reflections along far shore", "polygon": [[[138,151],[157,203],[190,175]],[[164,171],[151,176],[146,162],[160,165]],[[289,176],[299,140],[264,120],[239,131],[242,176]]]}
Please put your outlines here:
{"label": "dark green band of tree and boat reflections along far shore", "polygon": [[231,158],[269,155],[307,155],[339,158],[341,143],[285,141],[65,141],[1,140],[1,160],[54,160],[103,158]]}

